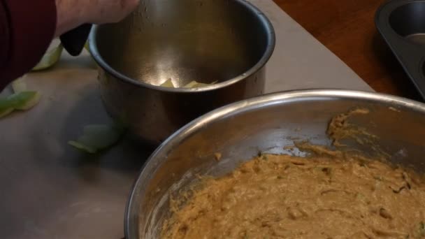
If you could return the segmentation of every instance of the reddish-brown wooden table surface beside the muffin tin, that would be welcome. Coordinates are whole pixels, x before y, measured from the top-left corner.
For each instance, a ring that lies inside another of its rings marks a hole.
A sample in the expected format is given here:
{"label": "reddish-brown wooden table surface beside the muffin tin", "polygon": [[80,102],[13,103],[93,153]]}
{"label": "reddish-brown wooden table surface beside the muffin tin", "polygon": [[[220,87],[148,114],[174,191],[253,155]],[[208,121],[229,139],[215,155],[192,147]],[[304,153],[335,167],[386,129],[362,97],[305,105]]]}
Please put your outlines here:
{"label": "reddish-brown wooden table surface beside the muffin tin", "polygon": [[377,92],[419,99],[375,28],[384,0],[274,0]]}

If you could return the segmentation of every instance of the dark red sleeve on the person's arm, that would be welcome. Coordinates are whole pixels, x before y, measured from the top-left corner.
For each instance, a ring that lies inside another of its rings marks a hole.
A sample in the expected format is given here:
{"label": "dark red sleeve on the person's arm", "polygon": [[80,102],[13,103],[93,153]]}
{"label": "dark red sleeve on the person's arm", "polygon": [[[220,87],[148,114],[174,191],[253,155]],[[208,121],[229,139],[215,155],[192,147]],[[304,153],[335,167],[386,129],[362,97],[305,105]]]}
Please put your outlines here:
{"label": "dark red sleeve on the person's arm", "polygon": [[55,29],[55,0],[0,0],[0,91],[40,61]]}

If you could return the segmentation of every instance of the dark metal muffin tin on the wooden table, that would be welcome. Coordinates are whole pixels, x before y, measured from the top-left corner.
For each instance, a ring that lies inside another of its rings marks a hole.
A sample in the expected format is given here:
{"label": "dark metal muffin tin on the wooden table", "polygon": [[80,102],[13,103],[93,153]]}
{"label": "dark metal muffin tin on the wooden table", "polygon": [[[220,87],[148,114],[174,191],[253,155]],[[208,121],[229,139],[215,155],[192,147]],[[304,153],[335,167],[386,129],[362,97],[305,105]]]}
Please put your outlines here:
{"label": "dark metal muffin tin on the wooden table", "polygon": [[375,24],[425,99],[425,1],[387,1],[377,10]]}

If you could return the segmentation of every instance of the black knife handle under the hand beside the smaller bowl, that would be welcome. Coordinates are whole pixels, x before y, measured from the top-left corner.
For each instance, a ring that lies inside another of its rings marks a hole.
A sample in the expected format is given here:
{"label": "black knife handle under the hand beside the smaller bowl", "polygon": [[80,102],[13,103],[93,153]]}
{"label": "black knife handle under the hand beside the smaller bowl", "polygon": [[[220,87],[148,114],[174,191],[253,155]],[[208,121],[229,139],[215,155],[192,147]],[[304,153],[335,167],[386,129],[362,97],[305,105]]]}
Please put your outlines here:
{"label": "black knife handle under the hand beside the smaller bowl", "polygon": [[78,56],[84,48],[89,37],[92,24],[82,24],[80,27],[72,29],[60,36],[62,45],[71,56]]}

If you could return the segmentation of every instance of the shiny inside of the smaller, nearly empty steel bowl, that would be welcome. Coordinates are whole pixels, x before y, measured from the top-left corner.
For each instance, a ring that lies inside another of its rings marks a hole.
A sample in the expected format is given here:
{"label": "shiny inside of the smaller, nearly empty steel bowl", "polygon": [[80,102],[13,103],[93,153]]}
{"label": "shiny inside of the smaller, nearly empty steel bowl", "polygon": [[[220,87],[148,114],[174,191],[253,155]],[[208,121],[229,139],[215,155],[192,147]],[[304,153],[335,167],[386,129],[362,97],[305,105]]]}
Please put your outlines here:
{"label": "shiny inside of the smaller, nearly empty steel bowl", "polygon": [[257,64],[271,43],[262,13],[240,0],[142,0],[126,20],[99,26],[96,45],[127,77],[182,87],[223,82]]}

